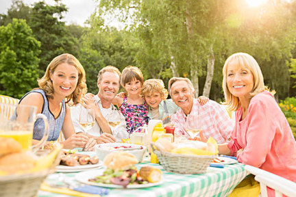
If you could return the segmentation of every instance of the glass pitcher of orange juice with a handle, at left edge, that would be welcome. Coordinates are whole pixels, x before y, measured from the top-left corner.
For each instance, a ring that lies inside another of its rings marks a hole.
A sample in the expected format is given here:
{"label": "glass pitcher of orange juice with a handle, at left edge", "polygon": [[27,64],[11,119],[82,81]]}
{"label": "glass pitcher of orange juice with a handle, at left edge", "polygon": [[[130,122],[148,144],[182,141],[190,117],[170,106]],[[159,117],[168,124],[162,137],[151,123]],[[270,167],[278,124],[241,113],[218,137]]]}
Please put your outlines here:
{"label": "glass pitcher of orange juice with a handle, at left edge", "polygon": [[[11,105],[0,103],[0,137],[12,137],[23,150],[35,152],[49,137],[49,124],[44,114],[36,114],[37,107],[31,105]],[[14,116],[12,116],[12,113]],[[38,144],[32,145],[34,122],[42,118],[45,132]]]}

